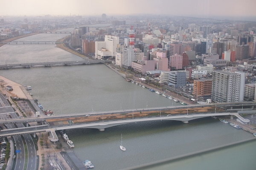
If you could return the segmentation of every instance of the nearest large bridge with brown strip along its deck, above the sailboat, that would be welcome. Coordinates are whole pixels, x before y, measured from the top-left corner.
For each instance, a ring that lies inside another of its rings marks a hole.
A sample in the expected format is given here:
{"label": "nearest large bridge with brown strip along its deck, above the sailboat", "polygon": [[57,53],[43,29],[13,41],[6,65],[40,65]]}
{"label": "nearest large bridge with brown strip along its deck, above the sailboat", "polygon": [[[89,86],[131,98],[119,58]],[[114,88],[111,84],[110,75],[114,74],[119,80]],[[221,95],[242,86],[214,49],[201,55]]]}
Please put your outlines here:
{"label": "nearest large bridge with brown strip along its deck, above the sailboat", "polygon": [[[134,122],[177,120],[189,123],[190,120],[209,116],[234,116],[244,124],[250,123],[240,114],[256,114],[256,102],[216,103],[207,105],[184,105],[161,108],[143,108],[119,111],[104,111],[90,113],[70,113],[65,115],[43,116],[38,118],[22,118],[0,120],[0,124],[23,123],[26,127],[5,129],[0,136],[12,136],[26,133],[50,132],[49,139],[58,141],[55,130],[73,128],[96,128],[104,131],[105,128]],[[37,122],[35,123],[31,122]],[[30,126],[29,126],[30,123]]]}

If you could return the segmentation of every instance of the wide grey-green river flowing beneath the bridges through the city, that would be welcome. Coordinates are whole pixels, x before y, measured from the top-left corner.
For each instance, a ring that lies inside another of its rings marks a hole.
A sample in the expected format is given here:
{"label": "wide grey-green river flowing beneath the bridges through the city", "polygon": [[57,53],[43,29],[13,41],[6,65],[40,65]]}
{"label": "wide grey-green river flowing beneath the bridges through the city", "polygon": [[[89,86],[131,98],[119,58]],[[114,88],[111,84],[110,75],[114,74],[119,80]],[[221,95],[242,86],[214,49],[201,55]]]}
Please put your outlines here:
{"label": "wide grey-green river flowing beneath the bridges through the city", "polygon": [[[16,41],[55,41],[67,34],[37,34]],[[6,44],[0,48],[0,64],[79,61],[55,44]],[[132,108],[180,105],[125,79],[103,64],[0,70],[0,75],[32,86],[33,98],[55,114],[73,114]],[[119,149],[123,137],[126,151]],[[106,128],[67,130],[74,152],[89,159],[94,170],[119,170],[175,158],[200,150],[255,138],[218,119],[183,124],[178,121],[137,122]],[[256,141],[159,164],[155,169],[255,170]]]}

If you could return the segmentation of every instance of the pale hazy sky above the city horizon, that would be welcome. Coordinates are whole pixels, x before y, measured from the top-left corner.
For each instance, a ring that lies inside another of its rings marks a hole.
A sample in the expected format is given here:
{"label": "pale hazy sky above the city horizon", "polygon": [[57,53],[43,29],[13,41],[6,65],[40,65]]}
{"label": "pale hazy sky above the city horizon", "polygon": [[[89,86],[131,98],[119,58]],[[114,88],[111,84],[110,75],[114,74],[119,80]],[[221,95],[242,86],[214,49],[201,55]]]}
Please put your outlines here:
{"label": "pale hazy sky above the city horizon", "polygon": [[170,14],[176,16],[250,16],[256,0],[0,0],[5,15]]}

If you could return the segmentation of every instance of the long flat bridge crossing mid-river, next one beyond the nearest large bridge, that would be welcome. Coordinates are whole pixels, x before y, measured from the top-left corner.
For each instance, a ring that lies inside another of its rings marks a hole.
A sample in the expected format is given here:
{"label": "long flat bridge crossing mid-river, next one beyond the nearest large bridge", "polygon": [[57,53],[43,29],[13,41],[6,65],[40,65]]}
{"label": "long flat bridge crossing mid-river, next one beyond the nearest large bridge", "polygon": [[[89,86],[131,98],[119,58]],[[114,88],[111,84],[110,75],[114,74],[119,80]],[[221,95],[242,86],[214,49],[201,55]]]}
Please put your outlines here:
{"label": "long flat bridge crossing mid-river, next one beyond the nearest large bridge", "polygon": [[24,64],[6,64],[0,65],[0,69],[10,68],[32,68],[32,67],[52,67],[61,65],[87,65],[87,64],[101,64],[110,63],[110,60],[84,60],[84,61],[60,61],[60,62],[37,62],[37,63],[24,63]]}

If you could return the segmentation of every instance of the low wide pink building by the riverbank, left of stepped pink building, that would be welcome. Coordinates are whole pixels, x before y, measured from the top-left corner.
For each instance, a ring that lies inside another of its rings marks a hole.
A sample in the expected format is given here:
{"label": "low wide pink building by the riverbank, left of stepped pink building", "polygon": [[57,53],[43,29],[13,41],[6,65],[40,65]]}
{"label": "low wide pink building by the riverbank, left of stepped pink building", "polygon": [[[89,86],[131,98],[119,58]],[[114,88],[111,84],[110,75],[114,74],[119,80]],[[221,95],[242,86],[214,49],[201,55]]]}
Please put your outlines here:
{"label": "low wide pink building by the riverbank, left of stepped pink building", "polygon": [[137,62],[131,62],[131,68],[133,68],[134,71],[145,74],[147,71],[154,70],[154,60],[140,60]]}

